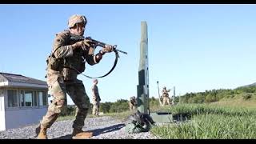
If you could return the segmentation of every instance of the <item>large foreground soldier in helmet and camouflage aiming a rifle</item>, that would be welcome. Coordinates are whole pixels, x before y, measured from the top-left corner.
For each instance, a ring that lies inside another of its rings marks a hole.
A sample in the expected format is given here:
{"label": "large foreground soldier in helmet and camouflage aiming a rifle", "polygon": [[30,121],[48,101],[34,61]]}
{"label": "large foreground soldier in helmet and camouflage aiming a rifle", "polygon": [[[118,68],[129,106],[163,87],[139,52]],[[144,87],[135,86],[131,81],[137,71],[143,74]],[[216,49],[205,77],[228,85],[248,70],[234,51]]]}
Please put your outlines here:
{"label": "large foreground soldier in helmet and camouflage aiming a rifle", "polygon": [[47,59],[46,74],[46,82],[54,99],[36,129],[38,138],[47,138],[46,130],[52,126],[63,107],[66,106],[66,94],[70,95],[78,107],[78,113],[72,126],[72,138],[90,138],[93,136],[92,132],[82,130],[90,106],[90,99],[82,81],[78,80],[77,77],[86,69],[86,62],[91,66],[97,64],[101,61],[103,54],[113,51],[113,46],[106,45],[98,54],[94,55],[90,47],[90,40],[74,42],[70,36],[72,34],[83,36],[86,23],[85,16],[74,14],[68,21],[69,30],[56,34],[54,38],[53,49]]}

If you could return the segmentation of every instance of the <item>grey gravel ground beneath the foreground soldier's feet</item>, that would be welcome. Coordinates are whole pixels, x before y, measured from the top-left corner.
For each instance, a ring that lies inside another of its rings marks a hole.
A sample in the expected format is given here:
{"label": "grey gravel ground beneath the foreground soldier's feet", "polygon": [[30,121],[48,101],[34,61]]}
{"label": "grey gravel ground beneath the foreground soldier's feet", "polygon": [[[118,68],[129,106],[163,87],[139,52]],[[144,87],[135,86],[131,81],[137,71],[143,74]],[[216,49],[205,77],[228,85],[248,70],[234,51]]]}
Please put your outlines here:
{"label": "grey gravel ground beneath the foreground soldier's feet", "polygon": [[[70,139],[72,133],[73,120],[54,122],[53,126],[47,130],[49,139]],[[18,129],[0,131],[0,139],[34,139],[35,128],[38,125],[26,126]],[[85,126],[82,130],[90,130],[94,132],[91,139],[157,139],[150,132],[139,134],[126,134],[126,122],[122,122],[116,118],[98,117],[86,118]]]}

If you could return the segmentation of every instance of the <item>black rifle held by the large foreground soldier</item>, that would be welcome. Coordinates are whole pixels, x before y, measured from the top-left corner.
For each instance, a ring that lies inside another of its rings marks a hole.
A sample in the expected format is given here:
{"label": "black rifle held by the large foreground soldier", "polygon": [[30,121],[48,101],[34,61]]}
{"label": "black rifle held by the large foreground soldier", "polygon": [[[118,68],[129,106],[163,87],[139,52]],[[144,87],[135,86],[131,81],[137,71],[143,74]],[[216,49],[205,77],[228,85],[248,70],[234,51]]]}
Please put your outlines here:
{"label": "black rifle held by the large foreground soldier", "polygon": [[[106,46],[106,43],[99,42],[99,41],[97,41],[97,40],[95,40],[95,39],[93,39],[91,37],[84,38],[84,37],[79,36],[79,35],[70,34],[70,39],[74,40],[75,42],[83,41],[85,39],[90,40],[91,46],[94,48],[94,50],[96,49],[97,46],[101,46],[101,47],[105,47]],[[116,54],[117,54],[117,52],[120,52],[122,54],[127,54],[127,52],[125,52],[125,51],[118,50],[117,49],[117,45],[114,45],[113,48],[114,48],[114,52],[116,52]]]}

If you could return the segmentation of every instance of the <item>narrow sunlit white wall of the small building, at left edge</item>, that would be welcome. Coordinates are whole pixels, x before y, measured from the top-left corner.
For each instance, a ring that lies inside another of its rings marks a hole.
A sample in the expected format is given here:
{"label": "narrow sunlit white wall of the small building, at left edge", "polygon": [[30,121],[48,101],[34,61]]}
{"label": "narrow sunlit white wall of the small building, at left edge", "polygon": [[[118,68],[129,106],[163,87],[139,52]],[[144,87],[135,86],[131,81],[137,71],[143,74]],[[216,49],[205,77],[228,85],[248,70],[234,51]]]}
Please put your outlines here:
{"label": "narrow sunlit white wall of the small building, at left edge", "polygon": [[0,131],[6,130],[6,118],[5,118],[5,91],[0,89]]}

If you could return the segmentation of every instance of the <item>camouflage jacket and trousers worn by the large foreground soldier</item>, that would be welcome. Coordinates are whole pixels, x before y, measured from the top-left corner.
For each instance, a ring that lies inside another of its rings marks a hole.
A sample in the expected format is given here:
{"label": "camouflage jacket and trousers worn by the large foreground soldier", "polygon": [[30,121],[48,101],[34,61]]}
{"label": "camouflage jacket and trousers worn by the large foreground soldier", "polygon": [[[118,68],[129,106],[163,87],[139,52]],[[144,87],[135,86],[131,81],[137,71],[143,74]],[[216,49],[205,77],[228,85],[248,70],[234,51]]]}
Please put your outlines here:
{"label": "camouflage jacket and trousers worn by the large foreground soldier", "polygon": [[[64,31],[56,35],[54,39],[53,50],[56,58],[65,58],[64,65],[72,66],[82,72],[85,69],[85,63],[82,56],[85,56],[86,62],[94,65],[94,55],[83,54],[82,49],[72,50],[69,42],[69,31]],[[82,129],[87,111],[90,106],[90,99],[86,94],[85,87],[81,80],[77,79],[78,72],[70,68],[62,68],[61,71],[47,69],[46,82],[50,94],[54,96],[50,103],[46,115],[42,118],[41,125],[49,128],[61,113],[63,106],[66,105],[66,93],[70,95],[74,104],[78,106],[78,114],[74,120],[73,128]]]}

